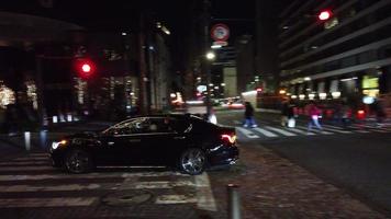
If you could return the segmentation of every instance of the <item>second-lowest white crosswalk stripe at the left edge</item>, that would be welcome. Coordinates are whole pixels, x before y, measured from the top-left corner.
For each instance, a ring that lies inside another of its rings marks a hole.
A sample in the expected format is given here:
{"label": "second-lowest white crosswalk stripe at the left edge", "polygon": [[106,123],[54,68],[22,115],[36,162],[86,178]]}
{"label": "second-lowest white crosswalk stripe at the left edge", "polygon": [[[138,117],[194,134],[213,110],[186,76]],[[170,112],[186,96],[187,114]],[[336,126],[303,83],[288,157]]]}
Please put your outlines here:
{"label": "second-lowest white crosswalk stripe at the left edge", "polygon": [[0,186],[0,193],[21,193],[21,192],[58,192],[58,191],[91,191],[98,189],[101,185],[99,184],[67,184],[67,185],[55,185],[55,186],[33,186],[33,185],[11,185],[11,186]]}

